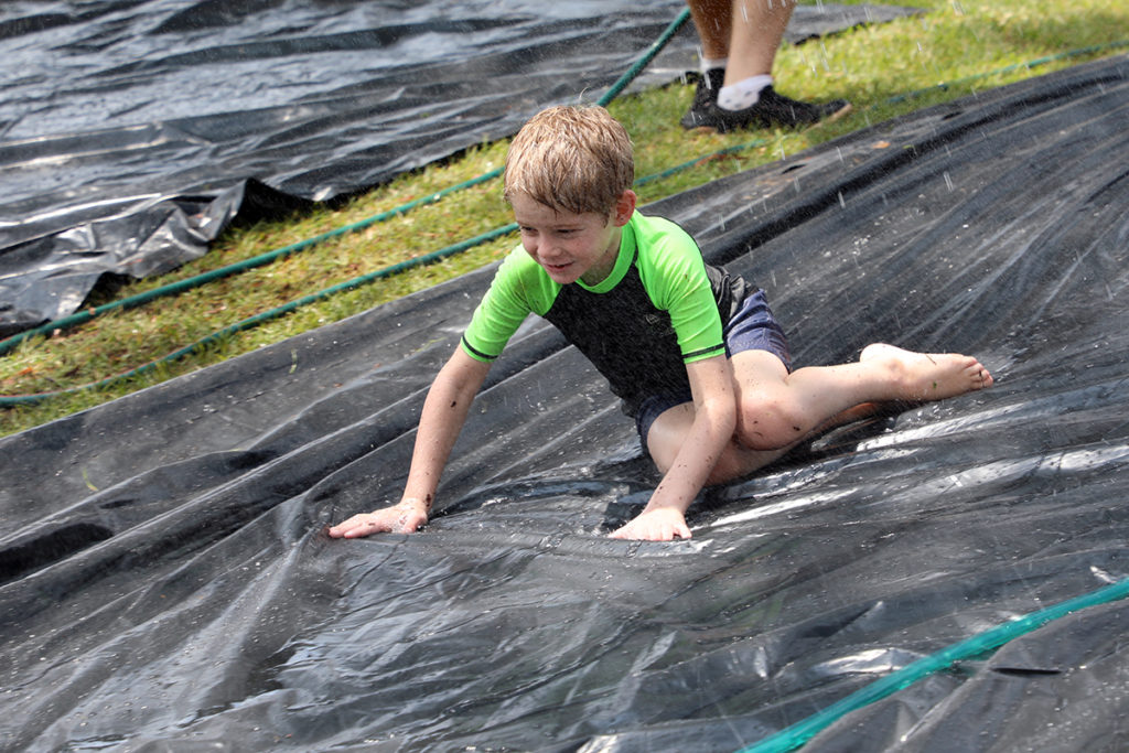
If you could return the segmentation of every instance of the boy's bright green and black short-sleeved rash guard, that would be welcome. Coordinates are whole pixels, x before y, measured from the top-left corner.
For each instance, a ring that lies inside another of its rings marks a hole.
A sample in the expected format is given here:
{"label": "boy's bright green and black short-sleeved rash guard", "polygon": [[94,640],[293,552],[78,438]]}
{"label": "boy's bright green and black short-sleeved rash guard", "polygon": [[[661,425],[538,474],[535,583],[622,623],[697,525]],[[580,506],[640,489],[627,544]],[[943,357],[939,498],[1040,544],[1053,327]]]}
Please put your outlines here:
{"label": "boy's bright green and black short-sleeved rash guard", "polygon": [[709,266],[674,222],[636,212],[620,253],[596,286],[560,284],[522,246],[498,268],[463,334],[463,350],[492,361],[525,317],[551,322],[607,379],[634,415],[650,395],[686,393],[686,364],[725,354],[723,325],[745,297],[745,282]]}

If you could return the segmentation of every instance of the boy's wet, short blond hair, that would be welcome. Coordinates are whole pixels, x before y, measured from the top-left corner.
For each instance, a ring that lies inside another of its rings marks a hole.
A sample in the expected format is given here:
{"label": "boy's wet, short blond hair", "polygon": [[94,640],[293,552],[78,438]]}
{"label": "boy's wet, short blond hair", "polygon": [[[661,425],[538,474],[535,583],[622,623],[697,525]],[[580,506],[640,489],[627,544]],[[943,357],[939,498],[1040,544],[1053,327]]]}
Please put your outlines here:
{"label": "boy's wet, short blond hair", "polygon": [[543,110],[527,122],[506,156],[504,196],[525,194],[575,214],[607,216],[634,183],[627,130],[598,106]]}

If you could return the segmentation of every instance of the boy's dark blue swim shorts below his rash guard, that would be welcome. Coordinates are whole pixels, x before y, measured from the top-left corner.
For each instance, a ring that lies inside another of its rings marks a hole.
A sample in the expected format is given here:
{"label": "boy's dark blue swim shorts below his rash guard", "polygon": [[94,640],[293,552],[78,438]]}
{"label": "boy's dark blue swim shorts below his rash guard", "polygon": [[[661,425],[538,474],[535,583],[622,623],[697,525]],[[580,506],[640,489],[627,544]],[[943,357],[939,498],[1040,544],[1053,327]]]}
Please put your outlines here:
{"label": "boy's dark blue swim shorts below his rash guard", "polygon": [[[784,333],[784,327],[772,316],[772,309],[769,308],[769,301],[764,297],[763,290],[758,289],[745,296],[741,308],[725,325],[724,335],[727,357],[732,358],[734,353],[746,350],[767,350],[779,358],[788,371],[791,371],[788,338]],[[689,388],[644,399],[639,405],[639,412],[636,414],[636,431],[639,432],[639,443],[642,446],[644,455],[649,454],[647,434],[655,419],[675,405],[692,402],[693,395],[690,394]]]}

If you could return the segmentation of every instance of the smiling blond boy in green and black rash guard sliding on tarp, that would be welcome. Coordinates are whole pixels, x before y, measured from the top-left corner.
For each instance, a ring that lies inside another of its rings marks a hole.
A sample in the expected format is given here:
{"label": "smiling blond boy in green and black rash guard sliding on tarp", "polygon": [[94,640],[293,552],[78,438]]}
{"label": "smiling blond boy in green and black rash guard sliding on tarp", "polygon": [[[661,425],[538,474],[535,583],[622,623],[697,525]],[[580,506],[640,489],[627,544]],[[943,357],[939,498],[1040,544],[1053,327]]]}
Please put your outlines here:
{"label": "smiling blond boy in green and black rash guard sliding on tarp", "polygon": [[427,523],[471,401],[531,312],[609,379],[663,474],[642,513],[611,534],[619,539],[689,539],[684,514],[704,485],[751,473],[863,404],[991,385],[972,357],[885,344],[855,364],[791,371],[763,291],[707,266],[673,222],[636,212],[633,181],[630,139],[602,107],[551,107],[526,123],[505,170],[522,245],[428,392],[403,497],[331,536]]}

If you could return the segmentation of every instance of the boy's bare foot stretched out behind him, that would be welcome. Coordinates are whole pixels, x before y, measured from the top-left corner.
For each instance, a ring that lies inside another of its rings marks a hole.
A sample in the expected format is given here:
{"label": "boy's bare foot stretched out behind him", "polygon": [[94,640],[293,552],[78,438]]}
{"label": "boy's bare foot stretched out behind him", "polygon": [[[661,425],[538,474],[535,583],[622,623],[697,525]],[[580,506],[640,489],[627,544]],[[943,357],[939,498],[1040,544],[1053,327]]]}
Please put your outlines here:
{"label": "boy's bare foot stretched out behind him", "polygon": [[994,382],[980,361],[961,353],[917,353],[879,342],[864,348],[858,360],[879,359],[895,375],[894,400],[944,400],[990,387]]}

